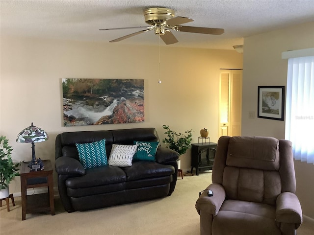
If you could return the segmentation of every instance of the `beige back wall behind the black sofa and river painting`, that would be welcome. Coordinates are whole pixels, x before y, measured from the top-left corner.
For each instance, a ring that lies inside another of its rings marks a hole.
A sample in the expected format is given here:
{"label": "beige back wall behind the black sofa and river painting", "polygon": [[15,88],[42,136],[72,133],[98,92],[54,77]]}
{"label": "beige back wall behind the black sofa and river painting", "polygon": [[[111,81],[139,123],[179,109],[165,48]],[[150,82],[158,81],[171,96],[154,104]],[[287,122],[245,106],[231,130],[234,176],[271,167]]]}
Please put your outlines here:
{"label": "beige back wall behind the black sofa and river painting", "polygon": [[[219,69],[242,68],[243,61],[234,50],[161,47],[158,84],[158,47],[4,37],[0,47],[0,134],[10,140],[13,159],[29,161],[31,145],[15,139],[33,122],[50,137],[36,144],[36,157],[53,164],[55,137],[66,131],[156,127],[162,140],[167,124],[179,132],[193,129],[193,142],[206,127],[217,141]],[[145,122],[63,127],[60,78],[145,79]],[[182,168],[190,169],[190,150]],[[20,191],[19,177],[10,190]]]}

